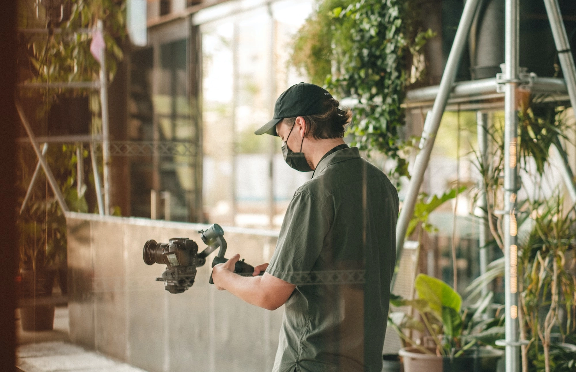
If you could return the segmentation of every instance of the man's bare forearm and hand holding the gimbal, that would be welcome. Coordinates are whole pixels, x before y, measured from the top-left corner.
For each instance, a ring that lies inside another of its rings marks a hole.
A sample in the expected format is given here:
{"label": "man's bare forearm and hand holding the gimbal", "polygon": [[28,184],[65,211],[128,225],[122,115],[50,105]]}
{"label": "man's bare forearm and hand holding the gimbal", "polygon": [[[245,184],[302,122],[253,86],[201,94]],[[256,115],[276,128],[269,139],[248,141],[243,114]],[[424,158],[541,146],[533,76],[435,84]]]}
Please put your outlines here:
{"label": "man's bare forearm and hand holding the gimbal", "polygon": [[[223,264],[214,266],[212,280],[218,290],[227,290],[236,297],[267,310],[276,310],[284,305],[295,289],[295,285],[264,273],[262,276],[241,276],[234,274],[234,264],[240,255],[234,255]],[[256,267],[255,274],[266,268]]]}

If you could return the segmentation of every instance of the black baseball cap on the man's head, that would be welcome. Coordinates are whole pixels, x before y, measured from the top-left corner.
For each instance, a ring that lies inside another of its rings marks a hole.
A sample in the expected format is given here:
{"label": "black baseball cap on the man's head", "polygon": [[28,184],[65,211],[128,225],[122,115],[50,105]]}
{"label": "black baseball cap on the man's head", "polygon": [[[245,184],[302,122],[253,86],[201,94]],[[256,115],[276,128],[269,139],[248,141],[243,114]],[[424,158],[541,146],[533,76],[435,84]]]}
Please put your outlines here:
{"label": "black baseball cap on the man's head", "polygon": [[254,134],[264,133],[278,136],[276,124],[285,117],[314,115],[324,112],[324,101],[332,94],[320,86],[310,83],[298,83],[286,89],[274,105],[274,119],[264,124]]}

